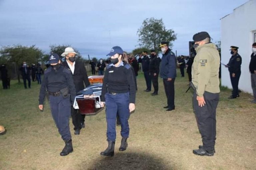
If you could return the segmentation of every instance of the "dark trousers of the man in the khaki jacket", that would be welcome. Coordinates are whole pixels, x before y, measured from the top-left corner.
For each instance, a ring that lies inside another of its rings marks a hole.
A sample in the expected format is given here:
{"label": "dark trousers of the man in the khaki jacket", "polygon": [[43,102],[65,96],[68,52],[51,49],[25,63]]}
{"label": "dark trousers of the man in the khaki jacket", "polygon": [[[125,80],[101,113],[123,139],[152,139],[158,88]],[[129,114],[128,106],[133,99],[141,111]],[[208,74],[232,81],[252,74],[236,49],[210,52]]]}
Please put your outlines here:
{"label": "dark trousers of the man in the khaki jacket", "polygon": [[214,149],[216,140],[216,108],[219,102],[219,93],[204,92],[205,105],[200,107],[193,95],[193,109],[196,116],[197,126],[202,137],[203,147],[206,151]]}

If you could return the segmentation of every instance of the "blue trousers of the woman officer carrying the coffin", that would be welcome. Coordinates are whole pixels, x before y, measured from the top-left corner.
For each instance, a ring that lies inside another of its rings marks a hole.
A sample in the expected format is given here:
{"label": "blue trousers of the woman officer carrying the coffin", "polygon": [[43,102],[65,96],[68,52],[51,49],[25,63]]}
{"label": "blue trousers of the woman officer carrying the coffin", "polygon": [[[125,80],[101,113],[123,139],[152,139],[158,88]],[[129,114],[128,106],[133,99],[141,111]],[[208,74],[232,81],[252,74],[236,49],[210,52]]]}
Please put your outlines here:
{"label": "blue trousers of the woman officer carrying the coffin", "polygon": [[116,140],[116,116],[119,115],[121,124],[121,136],[129,137],[129,92],[117,93],[116,95],[106,93],[106,119],[107,119],[107,138],[109,141]]}

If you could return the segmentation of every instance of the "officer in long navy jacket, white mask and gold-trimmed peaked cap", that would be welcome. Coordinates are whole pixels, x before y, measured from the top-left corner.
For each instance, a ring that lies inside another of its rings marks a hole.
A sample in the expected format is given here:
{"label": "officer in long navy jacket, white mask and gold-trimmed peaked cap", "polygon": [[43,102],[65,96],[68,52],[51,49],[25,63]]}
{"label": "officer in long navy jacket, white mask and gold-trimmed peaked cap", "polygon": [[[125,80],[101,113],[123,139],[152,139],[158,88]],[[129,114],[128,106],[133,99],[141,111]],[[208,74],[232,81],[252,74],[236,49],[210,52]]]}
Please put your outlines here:
{"label": "officer in long navy jacket, white mask and gold-trimmed peaked cap", "polygon": [[163,78],[164,90],[167,97],[166,111],[175,109],[174,105],[174,81],[176,78],[176,57],[175,54],[168,48],[168,42],[161,42],[161,51],[163,52],[160,76]]}

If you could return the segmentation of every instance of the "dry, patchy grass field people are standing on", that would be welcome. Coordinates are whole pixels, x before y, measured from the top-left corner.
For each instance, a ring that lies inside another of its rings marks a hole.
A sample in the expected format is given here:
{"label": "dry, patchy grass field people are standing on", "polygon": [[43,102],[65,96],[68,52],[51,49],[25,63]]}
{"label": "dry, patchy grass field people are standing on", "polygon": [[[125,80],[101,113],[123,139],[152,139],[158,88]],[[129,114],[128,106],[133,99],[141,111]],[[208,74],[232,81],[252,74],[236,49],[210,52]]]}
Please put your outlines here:
{"label": "dry, patchy grass field people are standing on", "polygon": [[[178,71],[179,73],[179,71]],[[143,75],[138,77],[136,111],[129,119],[128,148],[119,152],[117,127],[115,156],[104,158],[107,147],[105,111],[86,117],[86,127],[75,136],[74,152],[59,156],[64,142],[50,114],[46,100],[44,112],[38,109],[39,85],[31,89],[11,81],[11,89],[0,89],[0,125],[7,129],[0,136],[0,169],[3,170],[85,170],[85,169],[256,169],[256,104],[252,96],[241,93],[227,99],[231,91],[222,88],[217,108],[216,154],[201,157],[192,150],[201,137],[192,109],[192,92],[185,93],[187,77],[175,80],[175,110],[165,111],[166,96],[159,79],[159,95],[151,96]],[[241,82],[242,83],[242,82]],[[70,119],[70,129],[73,124]]]}

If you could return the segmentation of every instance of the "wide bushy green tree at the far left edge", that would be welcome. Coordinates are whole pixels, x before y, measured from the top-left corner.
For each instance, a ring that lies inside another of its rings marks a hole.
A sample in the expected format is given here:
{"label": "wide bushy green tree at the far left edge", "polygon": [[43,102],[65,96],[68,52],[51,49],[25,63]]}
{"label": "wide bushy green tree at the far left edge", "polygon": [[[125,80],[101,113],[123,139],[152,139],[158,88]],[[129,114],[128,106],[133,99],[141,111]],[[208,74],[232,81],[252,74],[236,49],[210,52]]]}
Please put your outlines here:
{"label": "wide bushy green tree at the far left edge", "polygon": [[27,64],[35,64],[42,61],[43,53],[42,50],[32,45],[30,47],[21,46],[21,45],[14,45],[14,46],[7,46],[2,47],[0,50],[1,60],[5,61],[6,63],[14,63],[15,71],[18,76],[18,82],[20,83],[20,74],[19,67],[22,65],[23,62],[27,62]]}

